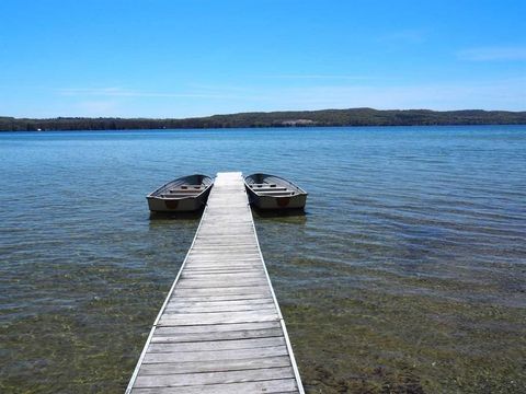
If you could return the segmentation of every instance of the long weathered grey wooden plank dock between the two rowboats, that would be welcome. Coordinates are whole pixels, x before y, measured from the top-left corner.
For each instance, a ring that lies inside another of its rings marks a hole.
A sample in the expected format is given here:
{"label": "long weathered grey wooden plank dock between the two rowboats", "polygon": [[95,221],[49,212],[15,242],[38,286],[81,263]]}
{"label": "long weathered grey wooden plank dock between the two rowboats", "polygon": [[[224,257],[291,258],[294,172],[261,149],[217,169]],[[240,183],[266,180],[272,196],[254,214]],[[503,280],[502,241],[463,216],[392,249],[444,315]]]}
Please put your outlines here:
{"label": "long weathered grey wooden plank dock between the two rowboats", "polygon": [[126,393],[305,393],[241,173],[217,174]]}

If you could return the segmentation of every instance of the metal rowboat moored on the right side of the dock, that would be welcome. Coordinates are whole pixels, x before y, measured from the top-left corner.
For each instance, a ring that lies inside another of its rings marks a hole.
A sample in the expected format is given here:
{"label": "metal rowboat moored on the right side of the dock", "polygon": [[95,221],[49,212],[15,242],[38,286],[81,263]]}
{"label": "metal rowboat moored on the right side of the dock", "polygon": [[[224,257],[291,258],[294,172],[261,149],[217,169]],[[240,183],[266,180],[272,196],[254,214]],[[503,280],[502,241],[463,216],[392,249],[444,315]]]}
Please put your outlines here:
{"label": "metal rowboat moored on the right side of the dock", "polygon": [[290,181],[268,174],[244,178],[250,204],[259,209],[304,209],[307,193]]}

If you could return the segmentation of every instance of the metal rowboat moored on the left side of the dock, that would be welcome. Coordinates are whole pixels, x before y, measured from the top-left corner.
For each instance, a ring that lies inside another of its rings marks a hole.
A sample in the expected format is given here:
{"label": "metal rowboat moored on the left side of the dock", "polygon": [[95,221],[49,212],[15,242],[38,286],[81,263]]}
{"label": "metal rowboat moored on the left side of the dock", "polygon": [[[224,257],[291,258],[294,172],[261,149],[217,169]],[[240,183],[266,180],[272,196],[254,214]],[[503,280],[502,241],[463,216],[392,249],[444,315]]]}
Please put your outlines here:
{"label": "metal rowboat moored on the left side of the dock", "polygon": [[173,179],[151,192],[146,199],[152,212],[191,212],[206,205],[214,181],[194,174]]}

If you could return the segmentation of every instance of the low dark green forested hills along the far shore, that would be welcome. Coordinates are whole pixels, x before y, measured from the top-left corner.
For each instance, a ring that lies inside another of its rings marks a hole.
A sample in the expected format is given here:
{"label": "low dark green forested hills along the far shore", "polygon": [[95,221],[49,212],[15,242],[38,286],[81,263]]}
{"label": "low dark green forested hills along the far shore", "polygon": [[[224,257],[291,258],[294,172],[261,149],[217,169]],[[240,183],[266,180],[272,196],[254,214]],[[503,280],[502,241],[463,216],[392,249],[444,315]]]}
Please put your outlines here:
{"label": "low dark green forested hills along the far shore", "polygon": [[185,119],[0,117],[1,131],[427,125],[526,125],[526,112],[352,108],[241,113]]}

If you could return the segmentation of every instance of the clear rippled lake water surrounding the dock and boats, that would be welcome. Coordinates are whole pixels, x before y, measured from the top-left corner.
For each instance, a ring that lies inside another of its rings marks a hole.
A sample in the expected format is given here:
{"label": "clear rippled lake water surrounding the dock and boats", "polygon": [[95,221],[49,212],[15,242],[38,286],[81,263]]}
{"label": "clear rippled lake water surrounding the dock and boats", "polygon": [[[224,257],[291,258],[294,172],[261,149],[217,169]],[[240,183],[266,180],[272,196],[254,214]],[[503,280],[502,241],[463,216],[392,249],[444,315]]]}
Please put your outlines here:
{"label": "clear rippled lake water surrounding the dock and boats", "polygon": [[282,174],[258,218],[309,393],[526,391],[526,127],[0,134],[0,391],[119,393],[196,219],[173,177]]}

